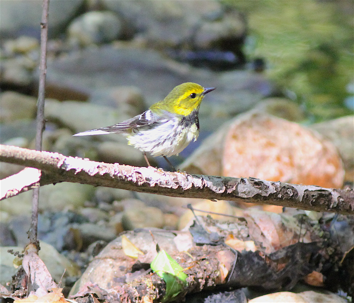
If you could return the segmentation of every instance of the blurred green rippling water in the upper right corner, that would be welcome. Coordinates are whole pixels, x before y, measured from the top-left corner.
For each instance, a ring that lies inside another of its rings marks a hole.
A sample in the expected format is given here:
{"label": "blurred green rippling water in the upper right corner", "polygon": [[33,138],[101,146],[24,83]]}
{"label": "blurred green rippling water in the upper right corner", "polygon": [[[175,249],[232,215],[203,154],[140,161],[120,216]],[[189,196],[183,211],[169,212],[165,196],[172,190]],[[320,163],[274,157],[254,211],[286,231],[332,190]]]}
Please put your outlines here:
{"label": "blurred green rippling water in the upper right corner", "polygon": [[295,93],[313,121],[353,114],[354,1],[223,1],[247,16],[246,55],[265,58],[268,78]]}

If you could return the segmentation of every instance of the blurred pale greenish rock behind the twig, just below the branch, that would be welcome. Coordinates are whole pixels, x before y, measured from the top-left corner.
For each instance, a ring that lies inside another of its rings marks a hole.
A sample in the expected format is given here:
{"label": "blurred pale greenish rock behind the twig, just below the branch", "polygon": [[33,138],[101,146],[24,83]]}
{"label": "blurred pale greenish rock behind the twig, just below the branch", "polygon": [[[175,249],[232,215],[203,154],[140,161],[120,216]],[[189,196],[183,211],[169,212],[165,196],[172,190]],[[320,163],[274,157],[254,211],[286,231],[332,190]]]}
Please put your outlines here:
{"label": "blurred pale greenish rock behind the twig, just below the branch", "polygon": [[[57,183],[45,185],[40,189],[40,210],[61,211],[75,209],[84,205],[84,202],[92,195],[91,185],[79,183]],[[1,201],[0,210],[11,215],[23,215],[31,213],[32,191],[25,191],[17,196]]]}

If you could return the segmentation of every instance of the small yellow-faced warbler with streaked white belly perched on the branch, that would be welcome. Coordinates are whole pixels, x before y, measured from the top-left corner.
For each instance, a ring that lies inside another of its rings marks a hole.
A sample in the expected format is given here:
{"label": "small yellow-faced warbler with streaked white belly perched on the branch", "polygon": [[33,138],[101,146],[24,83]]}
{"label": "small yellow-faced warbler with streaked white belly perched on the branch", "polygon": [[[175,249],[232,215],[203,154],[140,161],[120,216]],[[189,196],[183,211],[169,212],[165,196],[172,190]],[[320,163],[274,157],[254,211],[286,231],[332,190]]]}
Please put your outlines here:
{"label": "small yellow-faced warbler with streaked white belly perched on the branch", "polygon": [[204,88],[187,82],[173,88],[162,101],[156,102],[140,115],[118,124],[77,133],[74,136],[121,133],[128,144],[141,150],[147,164],[146,152],[153,157],[178,155],[199,135],[199,106],[206,93],[215,87]]}

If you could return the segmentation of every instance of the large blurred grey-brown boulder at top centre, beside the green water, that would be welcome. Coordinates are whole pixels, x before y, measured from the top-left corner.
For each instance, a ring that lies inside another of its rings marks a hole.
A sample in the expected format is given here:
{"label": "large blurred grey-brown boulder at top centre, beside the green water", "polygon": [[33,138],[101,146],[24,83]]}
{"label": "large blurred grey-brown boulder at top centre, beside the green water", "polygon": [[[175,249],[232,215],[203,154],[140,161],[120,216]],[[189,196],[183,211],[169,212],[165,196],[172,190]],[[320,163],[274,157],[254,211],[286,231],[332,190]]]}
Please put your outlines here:
{"label": "large blurred grey-brown boulder at top centre, beside the green water", "polygon": [[123,16],[149,44],[158,47],[207,49],[221,41],[240,47],[245,35],[244,18],[233,8],[224,10],[217,1],[107,1],[103,4]]}

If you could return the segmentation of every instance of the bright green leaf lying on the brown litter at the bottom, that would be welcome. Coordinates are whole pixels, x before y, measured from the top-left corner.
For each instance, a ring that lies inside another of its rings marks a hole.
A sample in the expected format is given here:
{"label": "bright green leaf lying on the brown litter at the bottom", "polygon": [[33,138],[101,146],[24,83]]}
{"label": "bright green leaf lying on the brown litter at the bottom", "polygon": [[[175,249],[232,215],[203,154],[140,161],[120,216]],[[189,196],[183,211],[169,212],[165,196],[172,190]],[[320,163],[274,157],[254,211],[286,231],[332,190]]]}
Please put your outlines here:
{"label": "bright green leaf lying on the brown litter at the bottom", "polygon": [[151,262],[150,268],[166,282],[166,295],[163,302],[177,296],[187,285],[187,275],[183,272],[183,268],[164,250],[158,253]]}

